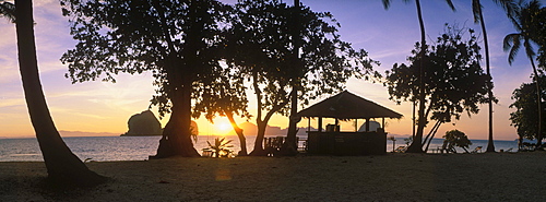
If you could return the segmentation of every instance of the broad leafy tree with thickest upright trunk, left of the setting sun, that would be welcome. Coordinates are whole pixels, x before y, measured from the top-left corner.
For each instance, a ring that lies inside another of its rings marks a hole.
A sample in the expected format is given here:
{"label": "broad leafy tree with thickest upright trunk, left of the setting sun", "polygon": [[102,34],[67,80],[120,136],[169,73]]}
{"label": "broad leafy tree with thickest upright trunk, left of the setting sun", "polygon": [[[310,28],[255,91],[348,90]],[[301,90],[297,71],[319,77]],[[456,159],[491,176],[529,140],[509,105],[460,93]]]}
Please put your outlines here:
{"label": "broad leafy tree with thickest upright trunk, left of the setting sun", "polygon": [[171,112],[157,157],[199,156],[190,132],[192,100],[222,71],[226,7],[215,0],[63,0],[79,44],[62,57],[73,82],[115,81],[119,72],[152,71],[153,105]]}

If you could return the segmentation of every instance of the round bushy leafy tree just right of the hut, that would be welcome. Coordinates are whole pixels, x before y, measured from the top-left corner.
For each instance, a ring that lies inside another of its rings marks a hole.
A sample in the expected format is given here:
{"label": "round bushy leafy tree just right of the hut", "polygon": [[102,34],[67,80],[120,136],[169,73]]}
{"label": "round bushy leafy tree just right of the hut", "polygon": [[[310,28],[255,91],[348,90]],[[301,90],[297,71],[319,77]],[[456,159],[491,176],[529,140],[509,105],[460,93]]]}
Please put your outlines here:
{"label": "round bushy leafy tree just right of the hut", "polygon": [[[487,85],[490,76],[485,74],[479,66],[482,56],[477,38],[472,29],[470,37],[463,38],[462,29],[446,27],[446,33],[428,46],[425,58],[419,57],[420,44],[412,51],[407,64],[394,64],[387,71],[387,82],[390,99],[396,103],[415,102],[419,99],[419,66],[424,70],[424,92],[426,95],[425,118],[442,122],[459,119],[461,114],[478,112],[478,105],[486,103]],[[436,127],[435,127],[436,128]],[[423,134],[423,131],[420,131]],[[417,132],[419,134],[419,132]],[[422,138],[417,140],[423,140]],[[422,142],[413,142],[422,146]]]}

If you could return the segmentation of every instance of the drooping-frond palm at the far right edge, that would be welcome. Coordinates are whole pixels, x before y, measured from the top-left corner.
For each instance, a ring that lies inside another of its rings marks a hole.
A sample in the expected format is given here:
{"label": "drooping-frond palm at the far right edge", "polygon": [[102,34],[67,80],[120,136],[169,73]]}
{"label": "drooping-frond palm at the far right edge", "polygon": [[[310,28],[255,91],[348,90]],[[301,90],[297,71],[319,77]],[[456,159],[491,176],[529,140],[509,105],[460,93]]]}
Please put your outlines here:
{"label": "drooping-frond palm at the far right edge", "polygon": [[520,2],[520,7],[514,12],[513,16],[510,16],[512,24],[518,33],[508,34],[505,37],[502,48],[505,51],[509,51],[508,54],[508,63],[512,64],[518,51],[521,46],[525,48],[525,54],[527,55],[529,60],[531,61],[531,67],[533,68],[533,79],[536,84],[536,96],[537,96],[537,111],[538,111],[538,130],[536,134],[536,144],[541,146],[542,144],[542,96],[541,96],[541,80],[538,71],[535,67],[534,57],[536,56],[533,45],[531,44],[531,35],[533,33],[533,27],[529,26],[529,22],[532,17],[533,12],[537,12],[541,10],[541,3],[536,0],[533,0],[526,4]]}

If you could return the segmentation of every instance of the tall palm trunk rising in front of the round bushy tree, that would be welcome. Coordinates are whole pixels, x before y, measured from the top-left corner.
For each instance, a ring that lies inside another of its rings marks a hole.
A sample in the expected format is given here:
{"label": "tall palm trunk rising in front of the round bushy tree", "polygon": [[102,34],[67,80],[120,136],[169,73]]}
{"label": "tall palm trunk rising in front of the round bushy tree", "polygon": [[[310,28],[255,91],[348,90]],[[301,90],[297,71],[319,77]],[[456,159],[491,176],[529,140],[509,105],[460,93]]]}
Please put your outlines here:
{"label": "tall palm trunk rising in front of the round bushy tree", "polygon": [[[383,7],[384,9],[389,9],[391,5],[391,0],[382,0],[383,1]],[[410,0],[404,0],[405,2],[410,2]],[[451,10],[455,11],[455,7],[453,5],[453,2],[451,0],[446,0],[448,5],[450,7]],[[426,41],[426,33],[425,33],[425,23],[423,21],[423,12],[420,10],[420,1],[415,0],[415,7],[417,9],[417,17],[419,20],[419,27],[420,27],[420,58],[425,58],[425,51],[427,49],[427,41]],[[418,126],[417,126],[417,133],[415,134],[412,144],[407,147],[406,152],[411,153],[423,153],[423,131],[425,130],[426,127],[426,121],[427,118],[425,117],[425,103],[426,103],[426,96],[425,96],[425,85],[423,82],[423,60],[420,60],[420,66],[419,66],[419,108],[418,108]]]}

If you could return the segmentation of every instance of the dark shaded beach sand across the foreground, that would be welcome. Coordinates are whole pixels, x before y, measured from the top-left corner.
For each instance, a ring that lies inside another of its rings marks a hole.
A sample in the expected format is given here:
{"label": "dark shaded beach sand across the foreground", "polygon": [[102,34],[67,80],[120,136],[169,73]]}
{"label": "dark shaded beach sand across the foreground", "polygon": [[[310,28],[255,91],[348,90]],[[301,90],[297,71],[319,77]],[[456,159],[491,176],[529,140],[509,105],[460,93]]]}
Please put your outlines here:
{"label": "dark shaded beach sand across the foreground", "polygon": [[92,162],[91,189],[44,189],[44,163],[0,163],[0,201],[545,201],[546,153]]}

